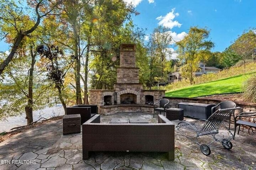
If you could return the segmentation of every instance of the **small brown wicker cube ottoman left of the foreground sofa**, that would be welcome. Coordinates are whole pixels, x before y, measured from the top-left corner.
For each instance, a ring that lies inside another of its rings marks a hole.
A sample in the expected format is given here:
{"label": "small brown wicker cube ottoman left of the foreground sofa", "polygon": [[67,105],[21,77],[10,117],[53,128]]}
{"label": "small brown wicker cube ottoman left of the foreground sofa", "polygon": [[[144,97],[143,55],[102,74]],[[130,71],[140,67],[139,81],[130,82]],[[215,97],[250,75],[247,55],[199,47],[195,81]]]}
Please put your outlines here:
{"label": "small brown wicker cube ottoman left of the foreground sofa", "polygon": [[80,114],[63,116],[63,135],[81,132],[81,116]]}

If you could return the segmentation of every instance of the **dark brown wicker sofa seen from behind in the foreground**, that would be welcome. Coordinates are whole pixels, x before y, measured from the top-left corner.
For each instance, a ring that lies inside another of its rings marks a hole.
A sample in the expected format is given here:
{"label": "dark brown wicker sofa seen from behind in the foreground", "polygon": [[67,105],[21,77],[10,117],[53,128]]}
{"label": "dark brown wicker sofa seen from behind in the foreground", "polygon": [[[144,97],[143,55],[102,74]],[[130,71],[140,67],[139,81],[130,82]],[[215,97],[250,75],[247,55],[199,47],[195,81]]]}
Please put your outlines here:
{"label": "dark brown wicker sofa seen from behind in the foreground", "polygon": [[90,151],[123,151],[168,152],[174,160],[174,124],[166,117],[164,123],[90,123],[94,117],[82,125],[83,159]]}

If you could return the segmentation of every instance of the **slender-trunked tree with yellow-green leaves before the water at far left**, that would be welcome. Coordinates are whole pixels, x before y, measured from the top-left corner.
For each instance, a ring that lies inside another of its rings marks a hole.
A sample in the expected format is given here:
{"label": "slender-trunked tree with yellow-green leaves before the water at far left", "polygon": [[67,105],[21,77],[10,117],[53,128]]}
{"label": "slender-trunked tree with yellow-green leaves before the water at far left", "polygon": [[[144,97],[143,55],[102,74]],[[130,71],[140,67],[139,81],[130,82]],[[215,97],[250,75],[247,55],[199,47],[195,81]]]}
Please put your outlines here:
{"label": "slender-trunked tree with yellow-green leaves before the water at far left", "polygon": [[[33,110],[51,105],[54,93],[36,66],[36,49],[27,45],[18,49],[5,68],[6,78],[0,87],[0,119],[26,113],[27,124],[33,122]],[[26,49],[26,50],[25,50]]]}

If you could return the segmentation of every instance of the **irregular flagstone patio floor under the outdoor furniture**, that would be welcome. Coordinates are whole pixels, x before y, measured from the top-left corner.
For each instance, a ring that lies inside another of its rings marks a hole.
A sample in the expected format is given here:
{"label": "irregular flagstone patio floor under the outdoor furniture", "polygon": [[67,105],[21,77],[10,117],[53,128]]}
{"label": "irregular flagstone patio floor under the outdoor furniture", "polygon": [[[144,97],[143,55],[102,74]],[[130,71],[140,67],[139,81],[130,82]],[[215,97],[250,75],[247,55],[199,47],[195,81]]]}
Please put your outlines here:
{"label": "irregular flagstone patio floor under the outdoor furniture", "polygon": [[[157,118],[146,113],[116,113],[101,115],[102,123],[113,117],[145,117],[149,122],[157,122]],[[225,133],[226,130],[220,130],[220,135]],[[202,142],[208,140],[202,137]],[[92,152],[88,160],[82,160],[82,132],[62,135],[62,119],[59,119],[0,143],[0,170],[256,169],[255,133],[240,132],[232,143],[231,150],[213,148],[205,156],[198,145],[176,133],[174,161],[167,160],[166,153],[161,152]]]}

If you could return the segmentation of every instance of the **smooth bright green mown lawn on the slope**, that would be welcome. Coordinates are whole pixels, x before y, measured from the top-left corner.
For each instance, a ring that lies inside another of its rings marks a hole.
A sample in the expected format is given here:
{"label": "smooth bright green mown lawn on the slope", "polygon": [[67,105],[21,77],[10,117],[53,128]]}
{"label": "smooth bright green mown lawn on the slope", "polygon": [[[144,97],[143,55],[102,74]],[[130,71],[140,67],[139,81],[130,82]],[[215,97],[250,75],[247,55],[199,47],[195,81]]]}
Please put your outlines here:
{"label": "smooth bright green mown lawn on the slope", "polygon": [[199,96],[209,96],[213,94],[225,94],[242,92],[243,83],[256,72],[240,74],[221,80],[197,84],[178,90],[171,90],[166,92],[166,97],[180,97],[180,98],[194,98]]}

